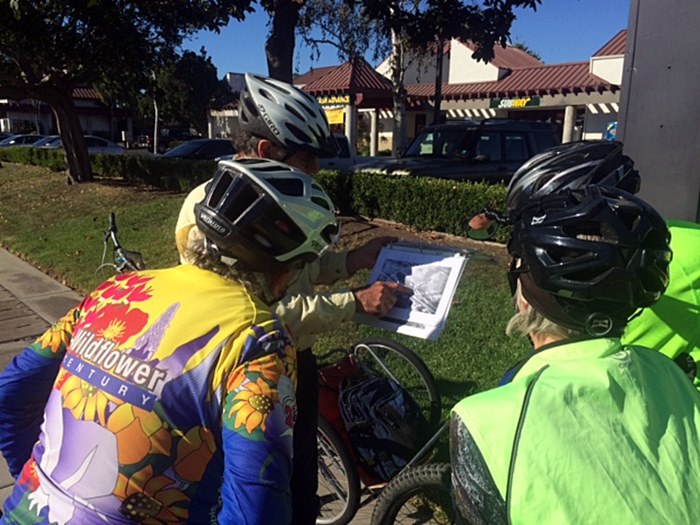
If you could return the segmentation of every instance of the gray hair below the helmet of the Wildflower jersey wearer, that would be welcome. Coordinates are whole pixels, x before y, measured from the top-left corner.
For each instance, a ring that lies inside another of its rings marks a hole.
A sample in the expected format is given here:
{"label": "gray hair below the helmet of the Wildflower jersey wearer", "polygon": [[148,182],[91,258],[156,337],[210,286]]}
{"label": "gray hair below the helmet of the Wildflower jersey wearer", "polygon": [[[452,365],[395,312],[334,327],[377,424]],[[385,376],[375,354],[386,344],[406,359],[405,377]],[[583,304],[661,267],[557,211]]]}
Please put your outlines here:
{"label": "gray hair below the helmet of the Wildflower jersey wearer", "polygon": [[193,226],[187,235],[184,255],[185,259],[194,266],[242,284],[248,292],[267,304],[273,302],[274,298],[270,292],[270,275],[251,272],[241,268],[235,259],[222,257],[215,253],[208,245],[204,234],[196,226]]}

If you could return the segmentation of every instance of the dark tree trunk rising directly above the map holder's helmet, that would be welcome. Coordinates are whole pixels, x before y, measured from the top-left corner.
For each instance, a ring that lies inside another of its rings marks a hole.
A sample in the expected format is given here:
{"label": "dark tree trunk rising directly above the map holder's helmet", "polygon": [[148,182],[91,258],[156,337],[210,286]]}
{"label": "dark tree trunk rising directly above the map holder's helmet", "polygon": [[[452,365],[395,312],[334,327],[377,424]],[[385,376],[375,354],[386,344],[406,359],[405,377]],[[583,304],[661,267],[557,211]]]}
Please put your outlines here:
{"label": "dark tree trunk rising directly above the map holder's helmet", "polygon": [[299,10],[304,2],[279,0],[271,13],[272,30],[265,42],[267,71],[272,78],[292,83],[294,61],[294,32],[299,21]]}

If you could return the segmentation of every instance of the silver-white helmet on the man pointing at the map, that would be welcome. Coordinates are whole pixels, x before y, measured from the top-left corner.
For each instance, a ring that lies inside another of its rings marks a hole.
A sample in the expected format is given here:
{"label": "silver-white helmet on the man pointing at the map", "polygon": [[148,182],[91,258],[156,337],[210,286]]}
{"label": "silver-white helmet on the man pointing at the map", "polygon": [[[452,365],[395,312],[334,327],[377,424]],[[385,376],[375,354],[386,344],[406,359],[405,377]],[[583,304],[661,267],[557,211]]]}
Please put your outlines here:
{"label": "silver-white helmet on the man pointing at the map", "polygon": [[283,148],[319,157],[337,155],[323,108],[291,84],[246,73],[238,119],[243,131]]}

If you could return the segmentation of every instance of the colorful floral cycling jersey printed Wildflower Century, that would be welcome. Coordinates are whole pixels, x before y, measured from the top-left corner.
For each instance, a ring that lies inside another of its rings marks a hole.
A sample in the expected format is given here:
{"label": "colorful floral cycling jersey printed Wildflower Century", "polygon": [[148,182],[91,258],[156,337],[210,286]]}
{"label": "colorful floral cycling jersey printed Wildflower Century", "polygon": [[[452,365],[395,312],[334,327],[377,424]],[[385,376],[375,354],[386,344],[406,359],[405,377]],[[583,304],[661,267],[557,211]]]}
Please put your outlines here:
{"label": "colorful floral cycling jersey printed Wildflower Century", "polygon": [[0,523],[288,523],[295,384],[285,331],[242,285],[116,276],[0,375]]}

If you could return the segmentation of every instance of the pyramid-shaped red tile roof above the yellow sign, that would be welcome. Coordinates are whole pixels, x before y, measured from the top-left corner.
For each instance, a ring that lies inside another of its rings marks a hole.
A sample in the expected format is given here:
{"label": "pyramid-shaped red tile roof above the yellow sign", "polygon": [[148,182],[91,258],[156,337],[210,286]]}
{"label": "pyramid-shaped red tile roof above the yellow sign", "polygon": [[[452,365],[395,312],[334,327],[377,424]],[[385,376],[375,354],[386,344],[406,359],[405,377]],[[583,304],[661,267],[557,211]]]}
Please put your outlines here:
{"label": "pyramid-shaped red tile roof above the yellow sign", "polygon": [[391,94],[391,82],[377,73],[363,58],[357,58],[309,82],[303,90],[316,96],[343,93]]}

